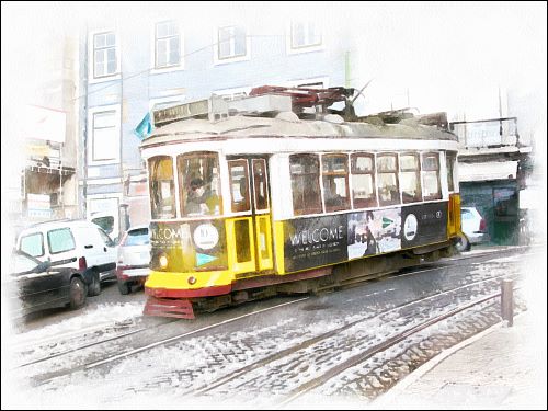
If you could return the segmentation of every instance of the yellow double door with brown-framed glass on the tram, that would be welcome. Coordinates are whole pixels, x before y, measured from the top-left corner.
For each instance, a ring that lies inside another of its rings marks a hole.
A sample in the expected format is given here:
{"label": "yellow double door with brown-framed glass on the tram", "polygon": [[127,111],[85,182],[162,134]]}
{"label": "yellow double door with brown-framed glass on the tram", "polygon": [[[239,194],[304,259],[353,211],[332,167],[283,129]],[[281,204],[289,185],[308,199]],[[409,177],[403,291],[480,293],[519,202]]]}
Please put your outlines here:
{"label": "yellow double door with brown-framed glass on the tram", "polygon": [[[266,157],[228,159],[231,210],[229,262],[237,272],[272,270],[271,201]],[[232,237],[232,238],[231,238]]]}

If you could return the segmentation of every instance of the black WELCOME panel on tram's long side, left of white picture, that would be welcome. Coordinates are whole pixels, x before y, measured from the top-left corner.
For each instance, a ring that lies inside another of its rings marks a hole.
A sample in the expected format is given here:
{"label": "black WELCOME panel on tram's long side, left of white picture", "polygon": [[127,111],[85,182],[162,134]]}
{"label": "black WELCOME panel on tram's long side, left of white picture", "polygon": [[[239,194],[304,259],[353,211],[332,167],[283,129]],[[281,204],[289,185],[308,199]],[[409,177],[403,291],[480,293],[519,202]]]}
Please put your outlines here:
{"label": "black WELCOME panel on tram's long side, left of white picture", "polygon": [[344,215],[285,221],[284,236],[287,272],[343,262],[347,259]]}

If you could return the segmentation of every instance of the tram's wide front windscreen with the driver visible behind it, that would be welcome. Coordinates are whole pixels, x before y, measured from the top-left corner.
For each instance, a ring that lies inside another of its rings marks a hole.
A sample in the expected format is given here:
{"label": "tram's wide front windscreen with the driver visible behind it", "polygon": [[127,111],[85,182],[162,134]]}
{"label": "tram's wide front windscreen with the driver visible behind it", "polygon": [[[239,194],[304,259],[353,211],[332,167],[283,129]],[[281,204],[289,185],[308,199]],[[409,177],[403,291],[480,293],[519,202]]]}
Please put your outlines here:
{"label": "tram's wide front windscreen with the driver visible behind it", "polygon": [[221,214],[219,158],[216,152],[178,156],[178,172],[182,216]]}

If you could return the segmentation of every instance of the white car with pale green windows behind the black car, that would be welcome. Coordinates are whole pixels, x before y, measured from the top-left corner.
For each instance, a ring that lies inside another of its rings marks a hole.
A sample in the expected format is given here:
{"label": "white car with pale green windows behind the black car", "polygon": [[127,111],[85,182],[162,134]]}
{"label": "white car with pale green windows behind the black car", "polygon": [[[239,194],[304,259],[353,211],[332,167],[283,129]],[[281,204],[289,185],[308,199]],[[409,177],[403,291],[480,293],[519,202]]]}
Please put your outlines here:
{"label": "white car with pale green windows behind the black car", "polygon": [[21,231],[16,249],[41,262],[77,270],[89,278],[90,296],[101,293],[101,282],[116,277],[116,246],[91,221],[65,219],[36,224]]}

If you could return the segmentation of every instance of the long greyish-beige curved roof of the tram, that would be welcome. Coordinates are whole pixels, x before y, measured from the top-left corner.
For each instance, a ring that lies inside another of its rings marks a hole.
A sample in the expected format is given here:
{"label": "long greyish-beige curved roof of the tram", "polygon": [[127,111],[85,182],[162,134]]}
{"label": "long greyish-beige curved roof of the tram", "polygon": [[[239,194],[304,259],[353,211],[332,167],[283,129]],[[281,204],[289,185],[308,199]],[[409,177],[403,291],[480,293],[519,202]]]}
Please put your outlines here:
{"label": "long greyish-beige curved roof of the tram", "polygon": [[[285,113],[284,113],[285,114]],[[457,140],[453,133],[436,126],[416,124],[413,118],[399,124],[298,119],[288,113],[285,118],[236,115],[218,122],[189,118],[157,128],[141,147],[162,142],[184,142],[201,139],[237,139],[252,137],[309,137],[309,138],[402,138],[423,140]],[[278,115],[278,117],[281,117]],[[341,117],[339,117],[341,118]],[[342,118],[341,118],[342,119]]]}

